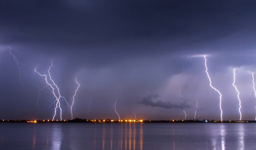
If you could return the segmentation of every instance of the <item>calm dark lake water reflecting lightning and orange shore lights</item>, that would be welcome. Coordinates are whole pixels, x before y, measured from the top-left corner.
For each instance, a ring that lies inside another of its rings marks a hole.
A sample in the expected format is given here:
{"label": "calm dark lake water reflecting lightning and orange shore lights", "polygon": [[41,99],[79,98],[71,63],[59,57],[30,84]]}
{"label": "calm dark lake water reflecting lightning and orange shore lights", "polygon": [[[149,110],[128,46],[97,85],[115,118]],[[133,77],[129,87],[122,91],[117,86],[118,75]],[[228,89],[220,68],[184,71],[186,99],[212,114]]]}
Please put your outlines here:
{"label": "calm dark lake water reflecting lightning and orange shore lights", "polygon": [[256,149],[256,124],[0,123],[0,149]]}

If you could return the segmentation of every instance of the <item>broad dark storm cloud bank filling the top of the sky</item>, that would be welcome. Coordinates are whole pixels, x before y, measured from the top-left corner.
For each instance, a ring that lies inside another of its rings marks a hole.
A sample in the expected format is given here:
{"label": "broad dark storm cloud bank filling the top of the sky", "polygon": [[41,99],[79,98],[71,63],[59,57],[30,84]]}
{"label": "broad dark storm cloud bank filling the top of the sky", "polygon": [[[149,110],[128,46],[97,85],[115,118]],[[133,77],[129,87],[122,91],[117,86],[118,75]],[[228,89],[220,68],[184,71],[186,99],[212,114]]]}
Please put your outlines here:
{"label": "broad dark storm cloud bank filling the top of the sky", "polygon": [[83,60],[83,53],[108,63],[106,53],[115,61],[163,52],[231,51],[254,43],[232,42],[253,37],[254,6],[250,0],[8,0],[0,3],[1,42],[27,44],[36,53],[61,52],[71,60]]}

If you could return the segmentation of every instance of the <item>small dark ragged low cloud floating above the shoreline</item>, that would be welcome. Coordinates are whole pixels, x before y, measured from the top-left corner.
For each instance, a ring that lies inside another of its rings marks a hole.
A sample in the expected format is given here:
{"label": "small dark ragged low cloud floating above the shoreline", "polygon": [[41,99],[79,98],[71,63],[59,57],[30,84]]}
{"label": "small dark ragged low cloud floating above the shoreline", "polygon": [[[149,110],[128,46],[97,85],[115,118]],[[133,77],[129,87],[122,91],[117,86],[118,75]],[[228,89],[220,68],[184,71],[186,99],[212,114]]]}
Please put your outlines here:
{"label": "small dark ragged low cloud floating above the shoreline", "polygon": [[145,96],[139,103],[143,104],[143,105],[148,105],[148,106],[152,106],[152,107],[161,107],[161,108],[177,108],[177,109],[184,109],[184,108],[190,108],[190,106],[185,102],[182,101],[181,103],[172,103],[169,101],[162,101],[162,100],[153,100],[158,98],[159,95],[158,94],[154,94],[154,95],[148,95]]}

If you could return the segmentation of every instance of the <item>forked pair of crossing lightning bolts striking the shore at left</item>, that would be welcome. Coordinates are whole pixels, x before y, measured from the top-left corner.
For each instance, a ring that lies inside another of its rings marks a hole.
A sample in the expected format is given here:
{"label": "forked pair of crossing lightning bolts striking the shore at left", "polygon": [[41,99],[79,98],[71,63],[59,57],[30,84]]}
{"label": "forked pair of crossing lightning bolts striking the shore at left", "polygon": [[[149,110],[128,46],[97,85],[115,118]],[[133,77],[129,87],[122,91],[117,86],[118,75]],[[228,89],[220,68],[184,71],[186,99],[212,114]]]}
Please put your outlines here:
{"label": "forked pair of crossing lightning bolts striking the shore at left", "polygon": [[[36,70],[37,67],[34,68],[34,72],[36,72],[36,73],[37,73],[38,75],[40,75],[40,76],[44,76],[44,80],[45,80],[46,84],[50,86],[50,88],[52,89],[52,94],[53,94],[53,96],[55,97],[56,103],[55,103],[55,107],[54,107],[54,114],[53,114],[53,117],[52,117],[52,121],[53,121],[54,118],[55,118],[57,108],[59,108],[59,111],[60,111],[59,113],[60,113],[60,121],[61,121],[61,120],[62,120],[62,109],[61,109],[61,106],[60,106],[60,98],[63,98],[63,99],[65,100],[65,102],[67,103],[68,106],[70,106],[70,105],[69,105],[68,102],[66,101],[65,97],[61,96],[61,94],[60,94],[60,92],[59,92],[58,86],[55,84],[55,82],[54,82],[53,79],[51,78],[50,69],[51,69],[52,65],[53,65],[53,64],[52,64],[52,60],[51,60],[51,65],[49,66],[48,71],[47,71],[49,77],[47,77],[46,74],[41,74],[41,73],[39,73],[39,72]],[[47,78],[49,78],[49,80],[53,83],[53,85],[48,82]],[[57,93],[58,93],[57,95],[55,94],[55,88],[54,88],[54,87],[57,88]],[[54,101],[54,102],[55,102],[55,101]]]}

